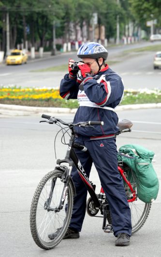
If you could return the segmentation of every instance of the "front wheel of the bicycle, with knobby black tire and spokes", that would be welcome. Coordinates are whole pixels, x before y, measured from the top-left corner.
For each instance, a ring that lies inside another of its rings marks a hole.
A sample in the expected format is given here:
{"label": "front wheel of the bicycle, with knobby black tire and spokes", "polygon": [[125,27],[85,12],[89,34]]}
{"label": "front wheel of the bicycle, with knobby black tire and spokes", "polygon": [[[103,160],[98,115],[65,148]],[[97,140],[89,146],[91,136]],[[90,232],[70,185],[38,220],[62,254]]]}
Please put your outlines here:
{"label": "front wheel of the bicycle, with knobby black tire and spokes", "polygon": [[[30,208],[30,230],[35,243],[42,249],[53,249],[63,239],[69,226],[73,210],[73,184],[69,182],[67,195],[63,208],[59,212],[44,209],[45,202],[51,190],[51,181],[54,181],[54,189],[50,207],[59,206],[64,182],[61,181],[64,172],[55,169],[47,173],[40,181],[34,193]],[[50,240],[48,235],[58,231],[56,238]]]}

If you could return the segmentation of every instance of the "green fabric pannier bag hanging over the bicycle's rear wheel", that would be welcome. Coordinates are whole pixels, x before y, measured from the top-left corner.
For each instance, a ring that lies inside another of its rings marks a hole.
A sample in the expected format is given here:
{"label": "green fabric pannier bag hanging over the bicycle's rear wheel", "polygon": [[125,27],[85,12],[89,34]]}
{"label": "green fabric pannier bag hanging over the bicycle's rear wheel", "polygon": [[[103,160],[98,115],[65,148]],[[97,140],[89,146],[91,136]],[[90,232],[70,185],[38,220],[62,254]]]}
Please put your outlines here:
{"label": "green fabric pannier bag hanging over the bicycle's rear wheel", "polygon": [[118,161],[126,163],[136,177],[137,196],[145,203],[157,198],[159,180],[153,168],[154,152],[140,145],[122,145],[118,152]]}

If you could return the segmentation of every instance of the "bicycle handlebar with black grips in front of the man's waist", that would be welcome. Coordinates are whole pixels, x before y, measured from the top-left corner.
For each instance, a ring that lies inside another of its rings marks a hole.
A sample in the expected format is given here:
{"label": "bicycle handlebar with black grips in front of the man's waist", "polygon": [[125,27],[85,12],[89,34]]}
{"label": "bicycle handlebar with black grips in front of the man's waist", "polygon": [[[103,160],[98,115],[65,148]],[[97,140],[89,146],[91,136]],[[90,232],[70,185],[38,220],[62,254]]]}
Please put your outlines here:
{"label": "bicycle handlebar with black grips in front of the man's waist", "polygon": [[61,124],[63,125],[66,125],[66,126],[91,126],[91,125],[101,125],[103,126],[103,121],[86,121],[86,122],[78,122],[77,124],[73,124],[73,123],[65,123],[64,121],[58,119],[58,118],[55,118],[53,116],[50,116],[50,115],[47,115],[47,114],[42,114],[42,118],[44,119],[48,119],[48,120],[51,120],[53,122],[57,122],[59,121]]}

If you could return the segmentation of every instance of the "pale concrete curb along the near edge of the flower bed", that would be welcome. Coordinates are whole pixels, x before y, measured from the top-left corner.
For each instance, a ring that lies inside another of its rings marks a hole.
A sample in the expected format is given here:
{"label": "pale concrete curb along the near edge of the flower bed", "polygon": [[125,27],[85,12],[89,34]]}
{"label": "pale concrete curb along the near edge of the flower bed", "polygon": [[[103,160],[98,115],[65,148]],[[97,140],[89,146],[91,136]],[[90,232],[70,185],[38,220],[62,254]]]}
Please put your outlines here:
{"label": "pale concrete curb along the near edge of the flower bed", "polygon": [[[158,109],[161,108],[161,103],[152,104],[131,104],[122,105],[116,108],[116,112],[126,111],[126,110],[138,110],[138,109]],[[30,116],[35,114],[50,113],[54,115],[55,113],[61,114],[74,114],[77,109],[70,108],[57,108],[57,107],[31,107],[31,106],[20,106],[20,105],[9,105],[0,104],[0,117],[5,116]]]}

